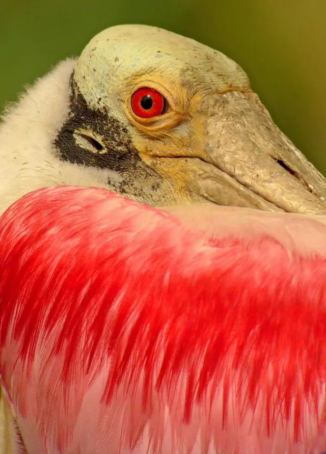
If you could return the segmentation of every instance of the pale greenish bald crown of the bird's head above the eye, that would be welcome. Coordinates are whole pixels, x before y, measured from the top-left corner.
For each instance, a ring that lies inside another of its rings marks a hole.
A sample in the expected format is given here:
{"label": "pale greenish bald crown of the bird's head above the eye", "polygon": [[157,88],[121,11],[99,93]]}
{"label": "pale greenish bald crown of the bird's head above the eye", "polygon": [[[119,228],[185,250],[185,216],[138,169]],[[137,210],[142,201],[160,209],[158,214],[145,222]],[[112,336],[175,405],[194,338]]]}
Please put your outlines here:
{"label": "pale greenish bald crown of the bird's head above the eye", "polygon": [[89,105],[114,109],[122,121],[124,99],[116,102],[121,94],[133,91],[139,80],[160,83],[160,77],[171,90],[176,83],[184,87],[189,99],[197,93],[209,95],[212,89],[250,88],[247,74],[221,52],[145,25],[120,25],[99,33],[83,50],[75,70]]}

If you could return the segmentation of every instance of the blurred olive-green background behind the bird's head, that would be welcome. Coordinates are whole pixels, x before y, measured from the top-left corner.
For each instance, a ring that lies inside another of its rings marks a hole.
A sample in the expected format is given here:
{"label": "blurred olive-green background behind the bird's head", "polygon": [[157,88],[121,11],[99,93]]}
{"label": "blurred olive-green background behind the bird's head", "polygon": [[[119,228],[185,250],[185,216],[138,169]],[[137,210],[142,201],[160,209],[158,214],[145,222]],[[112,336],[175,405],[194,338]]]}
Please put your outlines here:
{"label": "blurred olive-green background behind the bird's head", "polygon": [[0,111],[100,30],[145,23],[221,50],[326,174],[326,0],[0,0]]}

